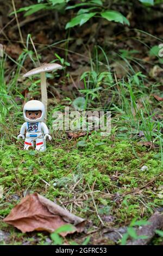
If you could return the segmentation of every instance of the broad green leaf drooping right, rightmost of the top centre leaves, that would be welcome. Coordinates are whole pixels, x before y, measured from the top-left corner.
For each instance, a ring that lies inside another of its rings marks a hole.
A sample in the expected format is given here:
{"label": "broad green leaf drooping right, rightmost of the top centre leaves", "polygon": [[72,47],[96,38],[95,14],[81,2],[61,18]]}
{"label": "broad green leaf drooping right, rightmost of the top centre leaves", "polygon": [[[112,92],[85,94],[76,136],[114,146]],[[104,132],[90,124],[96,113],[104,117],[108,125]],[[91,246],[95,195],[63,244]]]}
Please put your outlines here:
{"label": "broad green leaf drooping right, rightmost of the top centre leaves", "polygon": [[130,25],[129,21],[124,17],[121,13],[118,11],[104,11],[101,13],[101,16],[108,20],[108,21],[115,21],[115,22],[120,22],[122,24],[126,23],[128,26]]}

